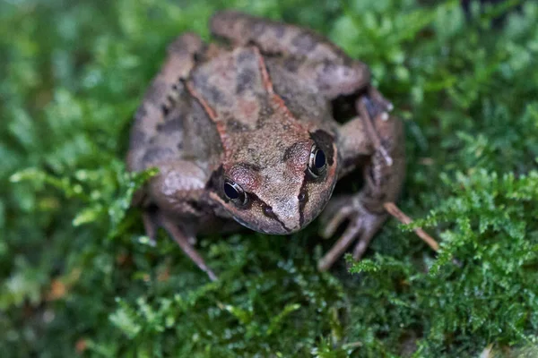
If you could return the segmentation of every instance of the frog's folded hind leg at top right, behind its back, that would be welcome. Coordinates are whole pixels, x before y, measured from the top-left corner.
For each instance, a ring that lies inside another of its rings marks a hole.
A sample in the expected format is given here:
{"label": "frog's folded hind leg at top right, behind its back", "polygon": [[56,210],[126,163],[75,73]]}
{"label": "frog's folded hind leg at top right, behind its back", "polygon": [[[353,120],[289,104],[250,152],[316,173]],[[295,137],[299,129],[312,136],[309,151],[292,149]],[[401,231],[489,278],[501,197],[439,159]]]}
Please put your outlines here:
{"label": "frog's folded hind leg at top right, behind its back", "polygon": [[283,55],[282,68],[297,72],[301,78],[311,78],[326,98],[369,88],[368,66],[351,59],[341,48],[311,30],[235,11],[216,13],[211,30],[234,45],[254,44],[262,53]]}

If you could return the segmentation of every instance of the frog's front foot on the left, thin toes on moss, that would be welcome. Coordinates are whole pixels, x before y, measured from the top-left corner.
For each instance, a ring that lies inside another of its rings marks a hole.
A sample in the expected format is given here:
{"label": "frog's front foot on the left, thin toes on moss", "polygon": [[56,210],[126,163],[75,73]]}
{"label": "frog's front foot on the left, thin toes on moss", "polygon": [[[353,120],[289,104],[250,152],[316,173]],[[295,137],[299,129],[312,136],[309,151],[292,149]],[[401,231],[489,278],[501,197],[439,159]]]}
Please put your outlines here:
{"label": "frog's front foot on the left, thin toes on moss", "polygon": [[193,244],[196,239],[193,234],[187,234],[187,231],[180,229],[172,219],[152,210],[143,213],[143,226],[152,245],[156,243],[157,229],[162,226],[198,268],[203,270],[212,281],[217,279],[217,276],[205,263],[204,258],[195,250]]}

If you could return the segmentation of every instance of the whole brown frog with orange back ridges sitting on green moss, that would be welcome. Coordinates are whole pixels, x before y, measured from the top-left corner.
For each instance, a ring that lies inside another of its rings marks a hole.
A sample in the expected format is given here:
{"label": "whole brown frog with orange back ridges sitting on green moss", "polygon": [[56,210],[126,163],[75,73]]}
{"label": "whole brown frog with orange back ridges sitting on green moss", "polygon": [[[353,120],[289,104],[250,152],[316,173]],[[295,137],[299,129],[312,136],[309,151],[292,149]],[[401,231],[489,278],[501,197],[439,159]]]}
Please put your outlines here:
{"label": "whole brown frog with orange back ridges sitting on green moss", "polygon": [[[127,170],[159,169],[133,200],[146,235],[163,228],[215,280],[199,235],[287,235],[321,214],[321,237],[344,228],[317,268],[352,243],[360,260],[405,175],[404,124],[369,66],[295,24],[224,10],[209,28],[169,44],[134,114]],[[333,198],[350,176],[360,191]]]}

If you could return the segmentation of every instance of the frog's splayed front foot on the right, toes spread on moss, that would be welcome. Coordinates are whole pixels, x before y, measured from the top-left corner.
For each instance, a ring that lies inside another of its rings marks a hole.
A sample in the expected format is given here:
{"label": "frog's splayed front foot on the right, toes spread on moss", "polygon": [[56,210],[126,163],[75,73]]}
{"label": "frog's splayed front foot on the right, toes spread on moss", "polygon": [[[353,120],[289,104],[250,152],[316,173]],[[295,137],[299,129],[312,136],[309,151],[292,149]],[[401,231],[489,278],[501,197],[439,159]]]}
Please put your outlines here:
{"label": "frog's splayed front foot on the right, toes spread on moss", "polygon": [[320,271],[331,268],[334,261],[338,260],[354,241],[357,243],[353,250],[353,259],[360,260],[372,237],[385,222],[386,217],[385,212],[372,213],[366,209],[362,205],[360,194],[335,198],[322,214],[321,220],[326,225],[322,229],[321,235],[325,238],[332,236],[344,220],[349,220],[349,224],[331,250],[319,260],[317,268]]}

